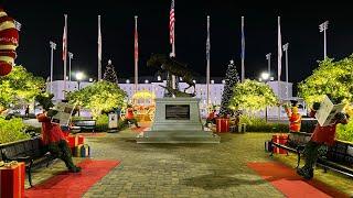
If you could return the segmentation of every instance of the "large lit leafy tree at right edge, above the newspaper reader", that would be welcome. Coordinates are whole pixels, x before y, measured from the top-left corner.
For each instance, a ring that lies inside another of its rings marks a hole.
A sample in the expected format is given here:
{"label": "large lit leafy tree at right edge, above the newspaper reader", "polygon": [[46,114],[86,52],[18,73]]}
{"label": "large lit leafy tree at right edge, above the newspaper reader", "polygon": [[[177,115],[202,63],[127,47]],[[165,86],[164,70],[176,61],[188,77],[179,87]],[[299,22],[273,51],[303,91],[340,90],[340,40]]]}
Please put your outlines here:
{"label": "large lit leafy tree at right edge, above the newspaper reader", "polygon": [[333,101],[353,101],[353,55],[338,62],[319,62],[312,75],[299,84],[299,96],[308,103],[320,101],[324,95]]}

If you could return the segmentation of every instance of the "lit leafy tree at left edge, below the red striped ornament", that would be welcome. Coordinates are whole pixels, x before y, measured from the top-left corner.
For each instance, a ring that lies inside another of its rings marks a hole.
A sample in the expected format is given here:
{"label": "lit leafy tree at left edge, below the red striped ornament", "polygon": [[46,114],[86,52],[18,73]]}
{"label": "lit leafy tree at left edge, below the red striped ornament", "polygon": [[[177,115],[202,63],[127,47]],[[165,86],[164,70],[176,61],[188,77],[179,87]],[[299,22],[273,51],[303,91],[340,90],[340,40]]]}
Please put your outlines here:
{"label": "lit leafy tree at left edge, below the red striped ornament", "polygon": [[0,77],[0,112],[10,105],[33,101],[44,89],[42,77],[35,77],[23,66],[14,66],[9,75]]}

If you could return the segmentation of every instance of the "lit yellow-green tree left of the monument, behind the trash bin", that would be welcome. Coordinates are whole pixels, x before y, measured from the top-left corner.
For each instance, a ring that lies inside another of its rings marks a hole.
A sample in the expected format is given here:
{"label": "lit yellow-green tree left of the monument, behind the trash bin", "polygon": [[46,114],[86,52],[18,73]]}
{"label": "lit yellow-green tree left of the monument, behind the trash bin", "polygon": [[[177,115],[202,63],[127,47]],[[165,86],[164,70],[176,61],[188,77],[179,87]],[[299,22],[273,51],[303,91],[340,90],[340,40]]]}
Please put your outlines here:
{"label": "lit yellow-green tree left of the monument, behind the trash bin", "polygon": [[94,118],[97,118],[101,111],[121,108],[126,97],[126,92],[117,84],[105,80],[67,95],[71,103],[90,109]]}

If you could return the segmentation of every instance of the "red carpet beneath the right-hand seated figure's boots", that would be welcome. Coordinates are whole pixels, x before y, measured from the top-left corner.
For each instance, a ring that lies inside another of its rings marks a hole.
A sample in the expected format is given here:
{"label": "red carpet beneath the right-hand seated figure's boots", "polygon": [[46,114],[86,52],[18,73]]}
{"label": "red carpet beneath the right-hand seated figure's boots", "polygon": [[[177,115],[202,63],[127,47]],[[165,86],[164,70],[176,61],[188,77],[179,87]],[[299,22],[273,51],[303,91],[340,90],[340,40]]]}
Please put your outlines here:
{"label": "red carpet beneath the right-hand seated figure's boots", "polygon": [[304,180],[297,175],[296,169],[278,163],[248,163],[247,166],[257,172],[286,197],[349,197],[319,180]]}

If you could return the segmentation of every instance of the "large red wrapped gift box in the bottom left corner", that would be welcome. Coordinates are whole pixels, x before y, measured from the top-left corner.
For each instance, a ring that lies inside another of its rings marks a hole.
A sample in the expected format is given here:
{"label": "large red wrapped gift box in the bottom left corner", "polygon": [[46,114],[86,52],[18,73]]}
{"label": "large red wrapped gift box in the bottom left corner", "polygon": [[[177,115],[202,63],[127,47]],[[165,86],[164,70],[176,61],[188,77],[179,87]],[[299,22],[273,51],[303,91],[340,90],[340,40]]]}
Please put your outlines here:
{"label": "large red wrapped gift box in the bottom left corner", "polygon": [[11,162],[0,167],[0,197],[24,198],[24,163]]}

